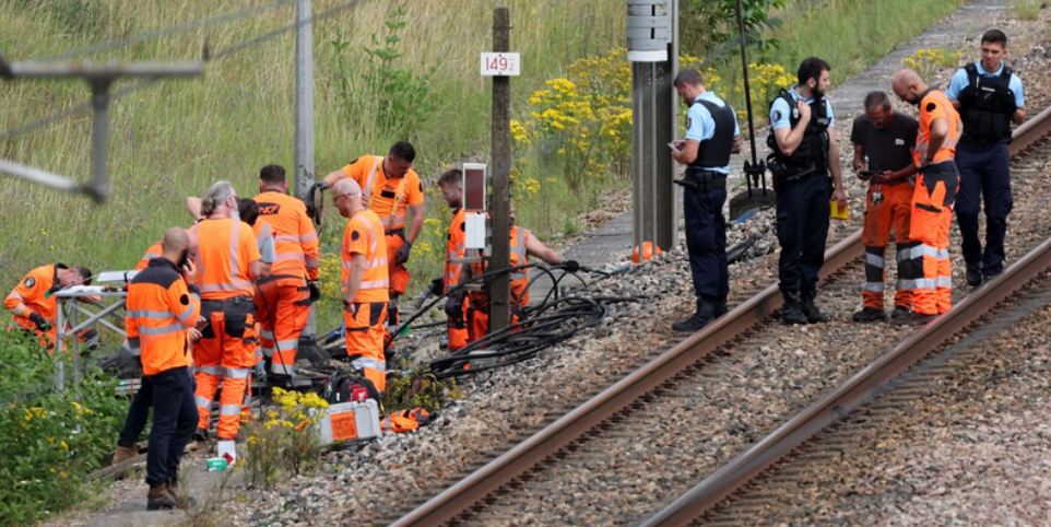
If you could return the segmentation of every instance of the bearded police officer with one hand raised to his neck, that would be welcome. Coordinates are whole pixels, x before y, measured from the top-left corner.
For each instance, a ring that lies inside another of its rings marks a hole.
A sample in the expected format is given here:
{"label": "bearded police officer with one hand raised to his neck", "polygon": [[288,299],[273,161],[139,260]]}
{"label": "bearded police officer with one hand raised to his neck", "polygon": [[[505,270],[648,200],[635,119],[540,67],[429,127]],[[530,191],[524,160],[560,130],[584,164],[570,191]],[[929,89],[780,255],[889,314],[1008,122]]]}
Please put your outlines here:
{"label": "bearded police officer with one hand raised to his neck", "polygon": [[[832,106],[825,98],[828,62],[810,57],[800,63],[799,84],[770,105],[772,125],[768,166],[777,189],[777,237],[781,245],[778,280],[784,296],[784,324],[816,324],[828,318],[814,305],[817,273],[825,262],[829,201],[847,206],[839,147],[830,140]],[[829,178],[831,173],[831,178]]]}

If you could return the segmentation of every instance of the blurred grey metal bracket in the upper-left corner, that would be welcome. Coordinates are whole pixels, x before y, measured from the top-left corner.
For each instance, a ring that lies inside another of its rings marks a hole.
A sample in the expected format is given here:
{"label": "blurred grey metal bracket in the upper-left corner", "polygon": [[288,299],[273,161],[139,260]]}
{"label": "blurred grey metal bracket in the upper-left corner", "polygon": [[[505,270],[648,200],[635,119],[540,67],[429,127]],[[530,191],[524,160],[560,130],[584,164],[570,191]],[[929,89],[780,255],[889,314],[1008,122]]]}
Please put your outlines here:
{"label": "blurred grey metal bracket in the upper-left corner", "polygon": [[96,203],[104,203],[109,196],[106,159],[109,151],[109,89],[114,81],[123,77],[197,77],[204,72],[204,61],[185,62],[8,62],[0,55],[0,78],[16,79],[68,79],[81,78],[92,90],[92,181],[76,184],[69,178],[25,165],[0,160],[0,172],[60,190],[91,196]]}

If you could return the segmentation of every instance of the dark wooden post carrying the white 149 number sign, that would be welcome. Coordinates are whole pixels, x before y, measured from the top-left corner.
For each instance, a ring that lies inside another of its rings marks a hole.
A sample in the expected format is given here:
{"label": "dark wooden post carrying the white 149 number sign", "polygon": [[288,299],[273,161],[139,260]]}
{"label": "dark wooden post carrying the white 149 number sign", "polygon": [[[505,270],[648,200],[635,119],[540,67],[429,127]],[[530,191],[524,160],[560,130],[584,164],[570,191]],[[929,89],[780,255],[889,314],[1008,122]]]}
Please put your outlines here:
{"label": "dark wooden post carrying the white 149 number sign", "polygon": [[[510,51],[511,11],[507,5],[493,10],[493,51]],[[493,78],[493,257],[489,269],[510,266],[510,173],[511,173],[511,84],[509,77]],[[489,332],[499,331],[511,321],[510,276],[501,272],[489,281]]]}

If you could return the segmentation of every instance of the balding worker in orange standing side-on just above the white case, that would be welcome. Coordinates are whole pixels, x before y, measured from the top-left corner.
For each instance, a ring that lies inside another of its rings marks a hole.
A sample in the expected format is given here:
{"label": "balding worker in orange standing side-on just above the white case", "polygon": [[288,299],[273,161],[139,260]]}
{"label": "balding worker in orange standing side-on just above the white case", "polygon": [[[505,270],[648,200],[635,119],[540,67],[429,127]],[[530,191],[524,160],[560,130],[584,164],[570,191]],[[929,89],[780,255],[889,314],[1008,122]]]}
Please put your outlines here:
{"label": "balding worker in orange standing side-on just above the white case", "polygon": [[349,219],[340,250],[343,260],[343,323],[346,354],[377,390],[387,389],[383,338],[387,321],[387,247],[379,216],[362,203],[362,188],[342,179],[332,188],[332,204]]}

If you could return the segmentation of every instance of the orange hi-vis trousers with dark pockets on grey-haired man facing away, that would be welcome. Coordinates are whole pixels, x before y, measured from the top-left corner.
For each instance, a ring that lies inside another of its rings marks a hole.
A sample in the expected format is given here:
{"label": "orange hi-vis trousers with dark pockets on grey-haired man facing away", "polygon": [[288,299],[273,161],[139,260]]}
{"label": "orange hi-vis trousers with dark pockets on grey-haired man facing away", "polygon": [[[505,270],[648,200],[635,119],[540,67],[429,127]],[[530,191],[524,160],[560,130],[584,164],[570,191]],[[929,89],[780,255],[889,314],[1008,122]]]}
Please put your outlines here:
{"label": "orange hi-vis trousers with dark pockets on grey-haired man facing away", "polygon": [[198,428],[208,428],[215,391],[222,380],[216,432],[220,440],[233,440],[240,426],[241,405],[247,400],[245,395],[256,364],[259,339],[255,304],[248,296],[205,300],[201,302],[201,316],[208,325],[201,330],[201,339],[193,344],[197,363],[194,399],[200,414]]}

